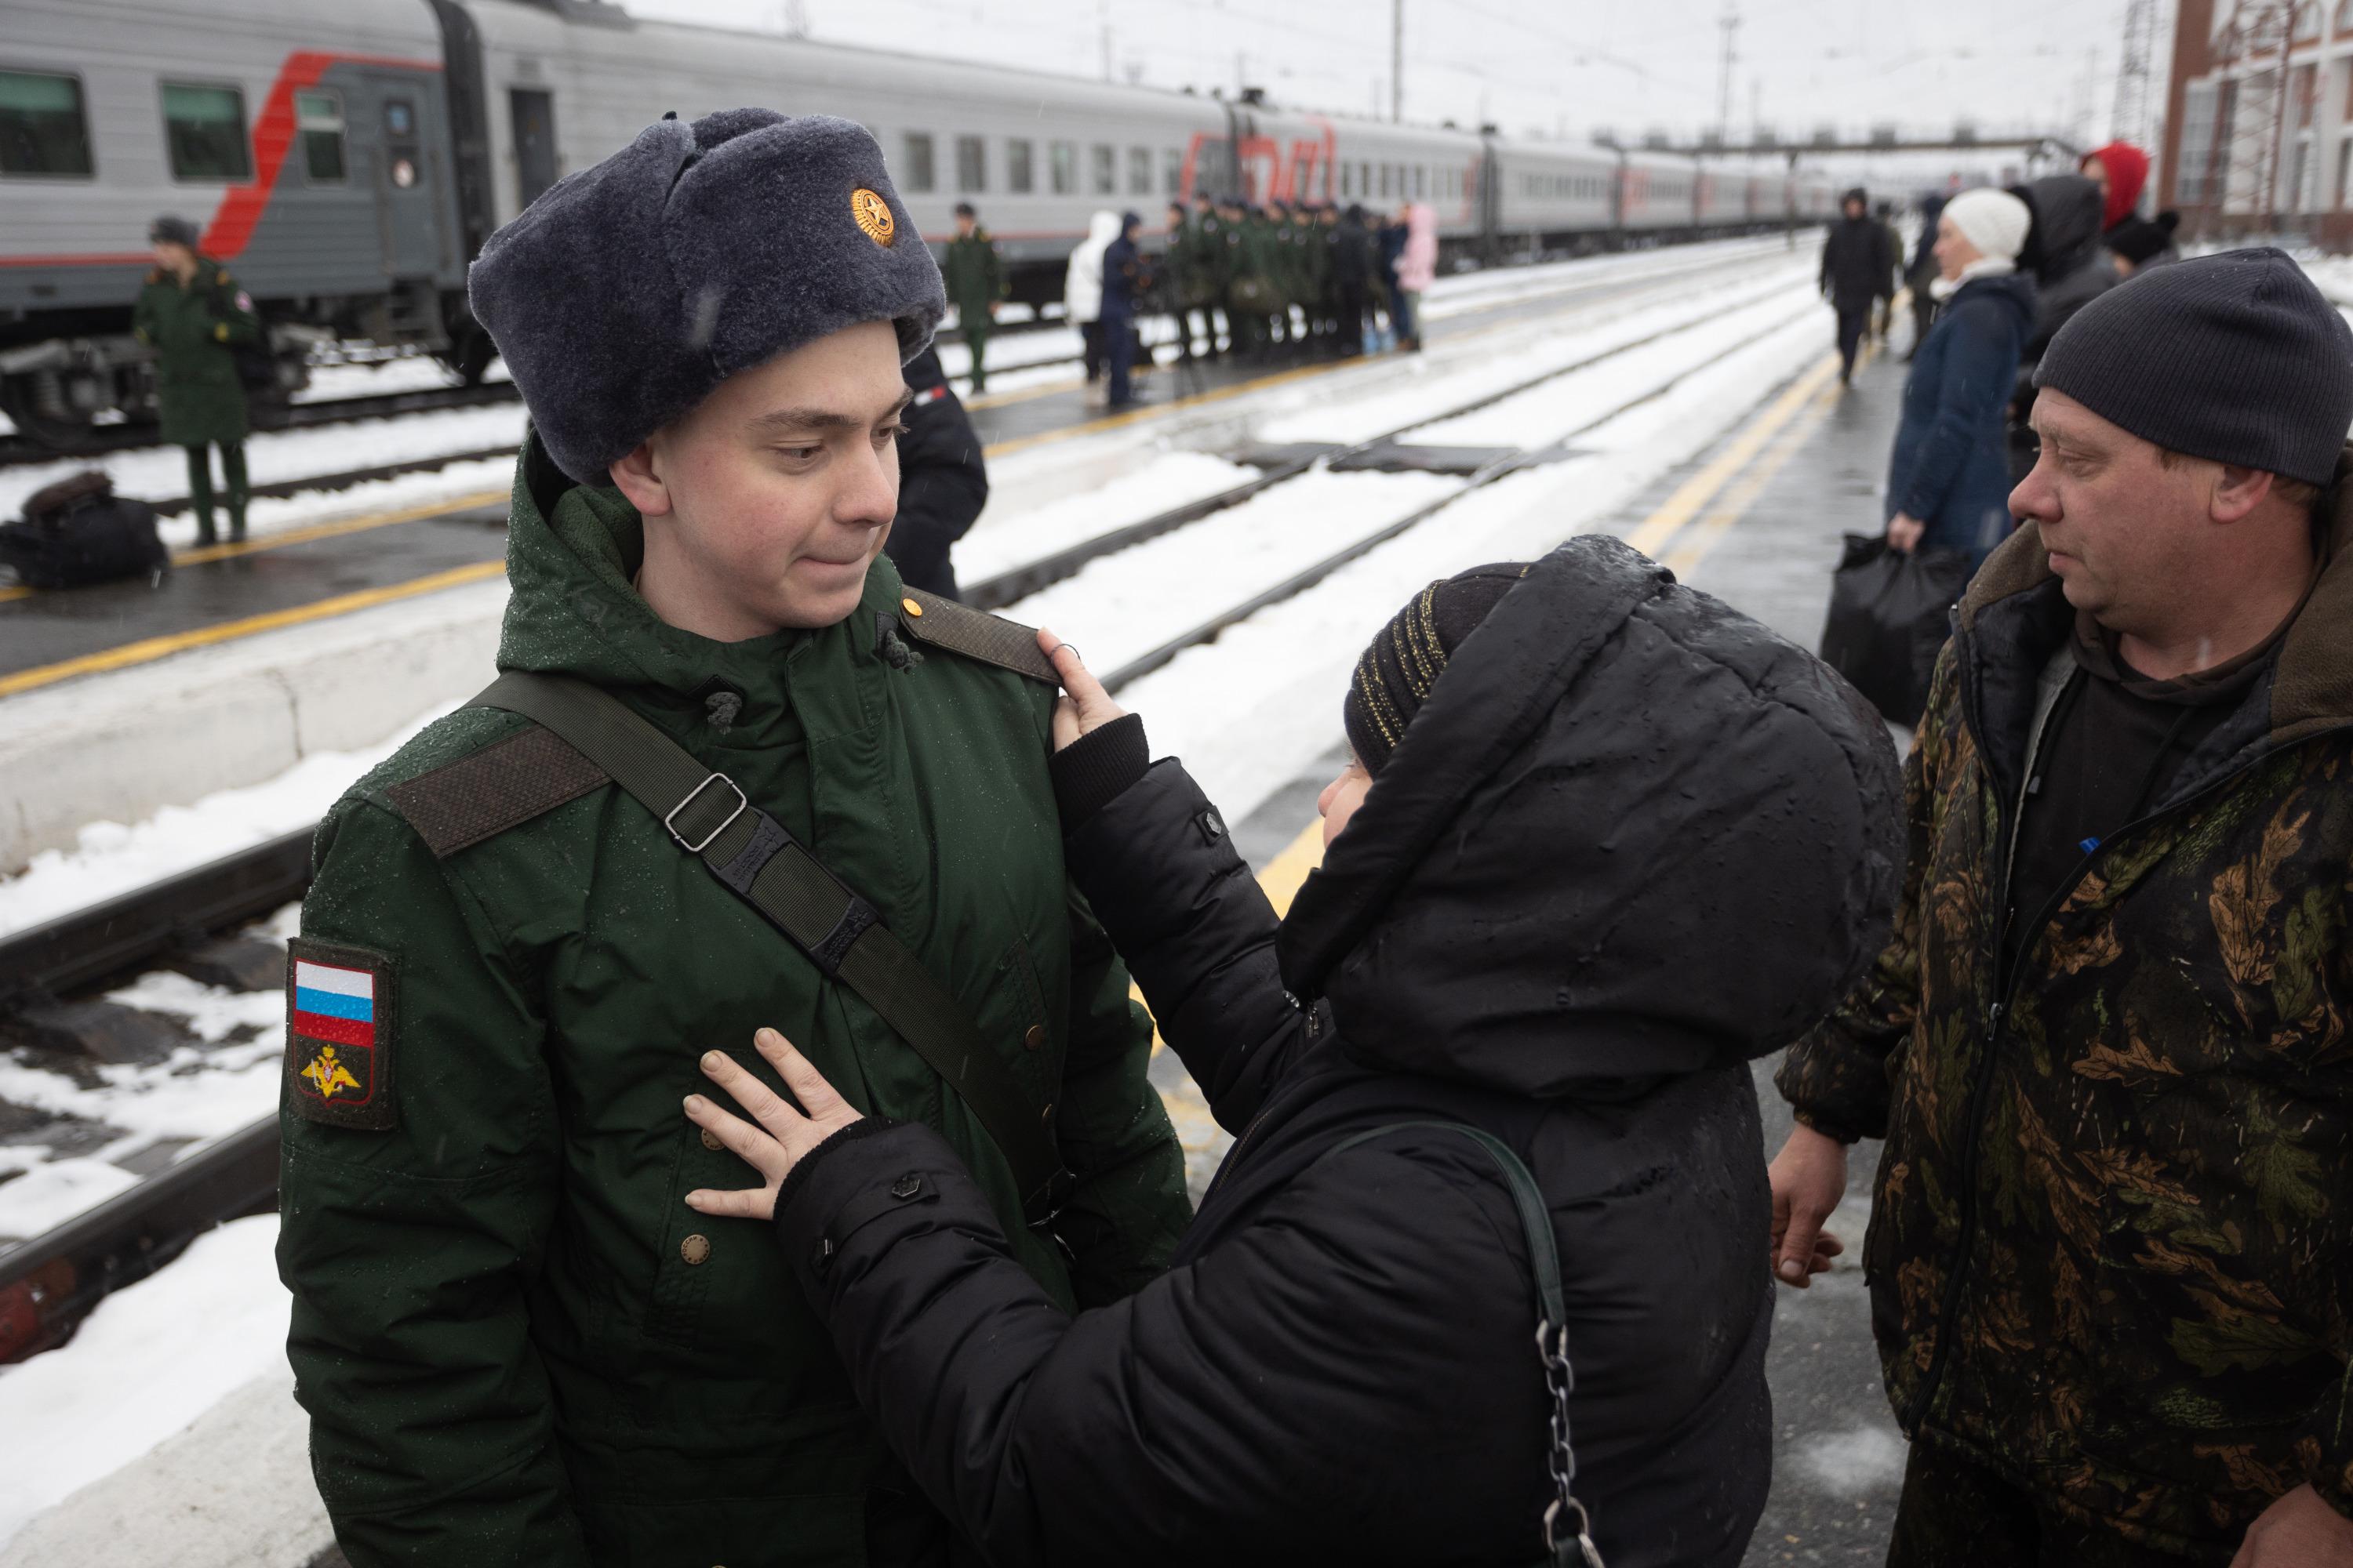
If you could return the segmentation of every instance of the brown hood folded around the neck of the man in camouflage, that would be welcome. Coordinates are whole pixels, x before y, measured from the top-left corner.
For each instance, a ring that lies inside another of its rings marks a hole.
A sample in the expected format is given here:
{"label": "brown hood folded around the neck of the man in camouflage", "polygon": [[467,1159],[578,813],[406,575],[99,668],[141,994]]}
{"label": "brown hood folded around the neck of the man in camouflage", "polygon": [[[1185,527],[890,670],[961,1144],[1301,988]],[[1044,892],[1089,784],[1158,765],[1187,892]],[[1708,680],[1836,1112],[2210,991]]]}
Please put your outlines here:
{"label": "brown hood folded around the neck of the man in camouflage", "polygon": [[[2327,559],[2320,581],[2297,614],[2280,651],[2273,661],[2271,679],[2259,689],[2261,708],[2247,715],[2245,726],[2226,726],[2217,750],[2224,745],[2278,748],[2306,736],[2353,724],[2353,442],[2337,458],[2337,477],[2329,484]],[[2049,616],[2040,616],[2049,611]],[[1969,646],[1986,644],[1991,661],[2000,646],[2031,644],[2021,635],[2021,623],[2047,618],[2052,625],[2073,625],[2073,611],[2059,595],[2059,576],[2052,571],[2049,550],[2042,548],[2042,524],[2021,522],[2017,531],[1986,557],[1986,564],[1969,578],[1960,597],[1960,630]],[[2033,686],[2042,670],[2042,658],[2057,649],[2028,646],[2007,668],[1986,670],[1984,684],[2000,689]],[[2026,668],[2033,665],[2033,668]],[[2224,762],[2224,757],[2217,757]],[[2193,785],[2200,769],[2184,773],[2184,788]],[[2177,790],[2179,792],[2179,790]]]}

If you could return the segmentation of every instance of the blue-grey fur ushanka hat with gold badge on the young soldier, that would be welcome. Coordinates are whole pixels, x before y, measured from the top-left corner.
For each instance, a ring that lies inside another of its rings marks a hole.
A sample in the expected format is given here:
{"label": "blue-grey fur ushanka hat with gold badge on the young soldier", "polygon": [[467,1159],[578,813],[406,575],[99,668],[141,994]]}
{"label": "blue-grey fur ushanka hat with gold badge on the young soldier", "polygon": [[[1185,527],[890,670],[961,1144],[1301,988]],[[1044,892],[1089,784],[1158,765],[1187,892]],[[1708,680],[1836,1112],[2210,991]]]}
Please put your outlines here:
{"label": "blue-grey fur ushanka hat with gold badge on the young soldier", "polygon": [[584,484],[736,371],[859,322],[906,362],[948,308],[866,127],[769,108],[656,120],[494,233],[466,289]]}

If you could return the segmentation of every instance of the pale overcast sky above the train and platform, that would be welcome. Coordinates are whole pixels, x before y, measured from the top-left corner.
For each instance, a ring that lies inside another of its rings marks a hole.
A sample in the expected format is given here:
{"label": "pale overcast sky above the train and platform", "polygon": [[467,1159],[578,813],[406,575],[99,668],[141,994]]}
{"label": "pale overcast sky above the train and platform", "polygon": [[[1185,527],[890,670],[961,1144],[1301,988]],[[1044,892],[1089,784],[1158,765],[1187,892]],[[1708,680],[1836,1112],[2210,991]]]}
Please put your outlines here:
{"label": "pale overcast sky above the train and platform", "polygon": [[[1388,103],[1388,0],[621,0],[640,16],[1153,87]],[[1875,122],[2108,136],[2125,0],[1739,0],[1732,132]],[[1715,125],[1725,0],[1405,0],[1405,118],[1584,136]],[[2162,40],[2153,68],[2165,68]],[[2155,94],[2153,94],[2155,96]]]}

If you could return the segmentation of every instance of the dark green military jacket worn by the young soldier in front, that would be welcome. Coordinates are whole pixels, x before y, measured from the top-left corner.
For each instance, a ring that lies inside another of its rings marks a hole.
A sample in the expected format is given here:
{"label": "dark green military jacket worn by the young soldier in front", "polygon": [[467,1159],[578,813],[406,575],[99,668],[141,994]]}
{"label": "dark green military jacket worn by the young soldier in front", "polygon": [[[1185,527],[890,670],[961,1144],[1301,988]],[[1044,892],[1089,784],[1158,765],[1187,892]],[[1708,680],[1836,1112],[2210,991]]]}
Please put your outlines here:
{"label": "dark green military jacket worn by the young soldier in front", "polygon": [[619,491],[532,440],[499,665],[595,682],[774,813],[967,1004],[1080,1185],[1028,1229],[962,1100],[645,806],[525,719],[438,719],[320,827],[289,987],[278,1265],[358,1568],[864,1563],[944,1530],[769,1227],[682,1201],[755,1180],[680,1100],[708,1048],[767,1077],[758,1025],[939,1128],[1061,1302],[1136,1288],[1188,1222],[1151,1023],[1064,877],[1052,691],[906,658],[889,559],[838,625],[718,644],[652,616],[640,557]]}

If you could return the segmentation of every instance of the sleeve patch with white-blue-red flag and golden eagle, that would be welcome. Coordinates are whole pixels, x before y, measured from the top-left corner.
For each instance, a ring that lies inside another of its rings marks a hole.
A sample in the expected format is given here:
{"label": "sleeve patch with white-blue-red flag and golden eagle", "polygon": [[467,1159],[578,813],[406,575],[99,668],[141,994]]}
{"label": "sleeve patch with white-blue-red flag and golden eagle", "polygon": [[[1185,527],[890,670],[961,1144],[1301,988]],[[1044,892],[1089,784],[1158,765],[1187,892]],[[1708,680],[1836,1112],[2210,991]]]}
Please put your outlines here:
{"label": "sleeve patch with white-blue-red flag and golden eagle", "polygon": [[287,943],[287,1103],[329,1126],[388,1131],[393,961],[365,947]]}

